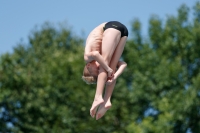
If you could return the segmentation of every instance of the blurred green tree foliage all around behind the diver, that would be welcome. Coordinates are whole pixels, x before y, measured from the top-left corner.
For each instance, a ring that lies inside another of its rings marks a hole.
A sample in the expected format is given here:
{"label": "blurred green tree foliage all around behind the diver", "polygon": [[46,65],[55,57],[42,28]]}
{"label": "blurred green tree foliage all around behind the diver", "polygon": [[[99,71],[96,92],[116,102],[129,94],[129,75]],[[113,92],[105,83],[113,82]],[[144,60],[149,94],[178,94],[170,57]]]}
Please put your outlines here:
{"label": "blurred green tree foliage all around behind the diver", "polygon": [[[149,39],[134,20],[112,108],[89,115],[95,85],[81,80],[84,39],[44,24],[28,44],[0,58],[0,132],[198,133],[200,3],[149,20]],[[10,126],[11,125],[11,126]]]}

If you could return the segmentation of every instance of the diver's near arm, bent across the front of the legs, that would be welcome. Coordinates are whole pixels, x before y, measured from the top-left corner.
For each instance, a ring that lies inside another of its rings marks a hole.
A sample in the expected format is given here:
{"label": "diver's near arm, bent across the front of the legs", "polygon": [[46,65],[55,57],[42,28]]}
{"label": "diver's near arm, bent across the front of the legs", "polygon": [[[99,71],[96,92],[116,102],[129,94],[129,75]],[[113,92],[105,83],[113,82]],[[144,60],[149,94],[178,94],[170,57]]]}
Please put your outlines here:
{"label": "diver's near arm, bent across the front of the legs", "polygon": [[106,64],[103,57],[99,54],[98,51],[92,51],[89,52],[88,54],[85,54],[84,60],[87,63],[96,60],[108,72],[108,77],[112,77],[114,75],[113,70]]}

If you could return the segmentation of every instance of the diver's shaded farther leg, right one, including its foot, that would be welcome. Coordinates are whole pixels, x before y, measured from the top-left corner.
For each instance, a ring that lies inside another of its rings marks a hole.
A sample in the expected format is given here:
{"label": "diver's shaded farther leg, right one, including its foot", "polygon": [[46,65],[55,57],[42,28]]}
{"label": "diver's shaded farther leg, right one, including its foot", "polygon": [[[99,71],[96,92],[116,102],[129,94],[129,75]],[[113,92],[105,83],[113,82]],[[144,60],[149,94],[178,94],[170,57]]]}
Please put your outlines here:
{"label": "diver's shaded farther leg, right one, including its foot", "polygon": [[[116,47],[116,50],[115,50],[113,56],[112,56],[109,66],[113,70],[116,69],[117,63],[118,63],[118,61],[122,55],[122,52],[124,50],[126,40],[127,40],[126,36],[121,38],[119,44]],[[111,107],[110,99],[111,99],[115,84],[116,84],[116,81],[114,83],[112,83],[111,85],[106,85],[106,90],[105,90],[105,95],[104,95],[104,103],[101,104],[101,106],[97,112],[97,115],[96,115],[97,120],[100,119],[106,113],[106,111]]]}

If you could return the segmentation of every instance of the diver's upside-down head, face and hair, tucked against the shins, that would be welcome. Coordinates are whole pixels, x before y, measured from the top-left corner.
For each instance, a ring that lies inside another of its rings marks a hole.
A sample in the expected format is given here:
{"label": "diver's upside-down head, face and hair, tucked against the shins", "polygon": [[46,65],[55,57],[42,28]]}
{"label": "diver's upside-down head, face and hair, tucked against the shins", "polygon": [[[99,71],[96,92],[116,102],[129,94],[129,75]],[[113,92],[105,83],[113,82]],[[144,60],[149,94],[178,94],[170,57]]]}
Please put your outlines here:
{"label": "diver's upside-down head, face and hair, tucked against the shins", "polygon": [[99,64],[96,61],[89,62],[85,65],[82,79],[87,84],[96,84],[99,73]]}

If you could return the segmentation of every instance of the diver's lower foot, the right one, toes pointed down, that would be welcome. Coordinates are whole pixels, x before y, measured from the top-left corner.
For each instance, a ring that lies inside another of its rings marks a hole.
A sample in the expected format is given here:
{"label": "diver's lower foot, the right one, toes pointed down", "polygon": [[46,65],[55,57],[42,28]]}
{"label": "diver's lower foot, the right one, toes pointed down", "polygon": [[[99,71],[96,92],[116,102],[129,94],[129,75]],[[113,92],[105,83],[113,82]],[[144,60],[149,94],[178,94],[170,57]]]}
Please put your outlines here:
{"label": "diver's lower foot, the right one, toes pointed down", "polygon": [[108,109],[110,109],[111,106],[112,106],[111,103],[100,105],[100,107],[99,107],[99,109],[98,109],[98,112],[97,112],[97,114],[96,114],[96,120],[98,120],[98,119],[100,119],[101,117],[103,117],[104,114],[106,113],[106,111],[107,111]]}

